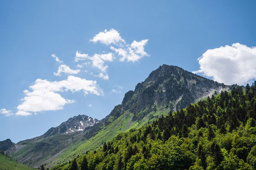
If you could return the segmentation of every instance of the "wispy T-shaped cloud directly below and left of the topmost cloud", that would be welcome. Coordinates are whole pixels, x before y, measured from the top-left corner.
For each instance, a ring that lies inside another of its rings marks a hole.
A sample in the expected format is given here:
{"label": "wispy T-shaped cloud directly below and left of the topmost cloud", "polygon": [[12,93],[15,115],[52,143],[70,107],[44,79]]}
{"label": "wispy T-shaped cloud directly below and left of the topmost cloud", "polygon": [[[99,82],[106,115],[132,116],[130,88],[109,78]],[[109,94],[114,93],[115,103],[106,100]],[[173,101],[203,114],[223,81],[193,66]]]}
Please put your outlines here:
{"label": "wispy T-shaped cloud directly below and left of the topmost cloud", "polygon": [[[89,56],[87,54],[81,54],[79,51],[76,51],[76,58],[79,58],[80,56],[84,56],[84,59],[90,60],[90,64],[93,68],[97,68],[100,73],[97,75],[97,77],[100,77],[102,79],[109,79],[108,74],[106,72],[108,65],[105,64],[105,61],[112,62],[113,56],[112,53],[108,54],[94,54],[93,56]],[[75,58],[75,61],[76,61]]]}

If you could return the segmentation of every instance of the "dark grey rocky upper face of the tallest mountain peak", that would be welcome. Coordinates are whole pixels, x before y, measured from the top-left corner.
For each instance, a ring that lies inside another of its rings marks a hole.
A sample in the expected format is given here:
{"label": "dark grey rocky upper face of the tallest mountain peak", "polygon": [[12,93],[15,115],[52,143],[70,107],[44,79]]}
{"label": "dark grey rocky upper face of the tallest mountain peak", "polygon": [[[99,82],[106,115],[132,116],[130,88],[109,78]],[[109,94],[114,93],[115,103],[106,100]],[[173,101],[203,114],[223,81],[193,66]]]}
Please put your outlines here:
{"label": "dark grey rocky upper face of the tallest mountain peak", "polygon": [[228,91],[230,87],[177,66],[162,65],[144,82],[138,83],[134,91],[128,91],[122,104],[116,106],[110,115],[118,117],[129,110],[134,114],[133,120],[141,120],[154,110],[154,106],[176,111],[212,94]]}

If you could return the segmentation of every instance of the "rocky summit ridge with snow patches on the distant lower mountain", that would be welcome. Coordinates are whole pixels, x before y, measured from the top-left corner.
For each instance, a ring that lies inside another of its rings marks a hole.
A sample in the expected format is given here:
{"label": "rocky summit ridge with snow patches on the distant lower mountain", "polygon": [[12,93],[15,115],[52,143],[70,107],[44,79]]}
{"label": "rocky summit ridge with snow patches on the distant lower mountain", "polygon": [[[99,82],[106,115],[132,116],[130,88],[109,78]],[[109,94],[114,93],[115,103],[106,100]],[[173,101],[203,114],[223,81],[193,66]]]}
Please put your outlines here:
{"label": "rocky summit ridge with snow patches on the distant lower mountain", "polygon": [[57,127],[50,128],[46,133],[44,133],[45,137],[52,136],[60,133],[72,133],[76,131],[82,131],[86,127],[93,126],[99,123],[98,119],[93,119],[86,115],[78,115],[73,118],[68,119],[66,122],[61,123],[61,125]]}

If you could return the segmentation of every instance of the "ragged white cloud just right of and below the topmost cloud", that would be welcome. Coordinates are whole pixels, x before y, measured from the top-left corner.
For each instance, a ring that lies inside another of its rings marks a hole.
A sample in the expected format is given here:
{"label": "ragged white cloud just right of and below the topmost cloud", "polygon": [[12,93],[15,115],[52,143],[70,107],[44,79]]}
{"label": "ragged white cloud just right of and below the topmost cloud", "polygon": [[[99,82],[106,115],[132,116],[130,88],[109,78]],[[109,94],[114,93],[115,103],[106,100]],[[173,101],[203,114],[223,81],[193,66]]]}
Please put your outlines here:
{"label": "ragged white cloud just right of and below the topmost cloud", "polygon": [[115,51],[119,56],[121,56],[120,61],[131,61],[135,62],[144,56],[149,56],[144,51],[144,46],[147,44],[148,40],[141,40],[139,42],[133,41],[131,45],[127,45],[127,48],[114,48],[110,47],[111,50]]}

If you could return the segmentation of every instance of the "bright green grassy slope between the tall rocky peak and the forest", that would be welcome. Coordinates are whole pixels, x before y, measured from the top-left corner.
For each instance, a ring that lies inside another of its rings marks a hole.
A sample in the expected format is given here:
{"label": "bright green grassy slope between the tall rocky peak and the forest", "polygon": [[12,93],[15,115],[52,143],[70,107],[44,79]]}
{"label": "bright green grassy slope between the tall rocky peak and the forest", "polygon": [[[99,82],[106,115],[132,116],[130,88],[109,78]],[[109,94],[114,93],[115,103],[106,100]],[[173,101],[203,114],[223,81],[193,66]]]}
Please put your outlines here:
{"label": "bright green grassy slope between the tall rocky peak and the forest", "polygon": [[145,125],[148,123],[148,121],[151,121],[151,115],[153,115],[155,119],[157,116],[169,113],[169,111],[169,109],[158,108],[156,112],[149,113],[142,120],[140,120],[140,122],[131,121],[133,114],[127,111],[123,115],[119,116],[119,118],[117,118],[110,125],[102,128],[102,130],[99,130],[99,133],[97,133],[89,140],[81,141],[70,146],[60,156],[57,156],[47,164],[52,167],[55,164],[62,164],[65,161],[72,160],[79,154],[85,154],[87,150],[96,150],[97,148],[102,147],[104,142],[108,142],[113,139],[113,137],[115,137],[117,134],[125,132],[131,128],[139,128]]}

